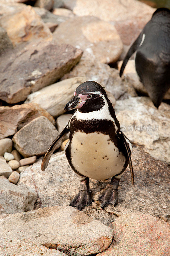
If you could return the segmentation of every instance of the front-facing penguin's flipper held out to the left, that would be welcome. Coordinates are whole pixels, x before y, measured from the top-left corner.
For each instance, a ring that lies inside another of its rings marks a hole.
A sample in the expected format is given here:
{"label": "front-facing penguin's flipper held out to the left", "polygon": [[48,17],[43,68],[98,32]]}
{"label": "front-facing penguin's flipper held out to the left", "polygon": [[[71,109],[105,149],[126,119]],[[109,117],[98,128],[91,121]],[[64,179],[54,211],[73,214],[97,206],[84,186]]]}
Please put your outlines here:
{"label": "front-facing penguin's flipper held out to the left", "polygon": [[63,129],[62,132],[56,137],[56,139],[52,142],[52,144],[49,146],[44,158],[42,159],[42,164],[41,164],[41,170],[45,171],[47,168],[48,162],[50,160],[51,155],[53,154],[54,150],[57,148],[58,144],[61,142],[62,138],[70,132],[70,128],[68,125]]}

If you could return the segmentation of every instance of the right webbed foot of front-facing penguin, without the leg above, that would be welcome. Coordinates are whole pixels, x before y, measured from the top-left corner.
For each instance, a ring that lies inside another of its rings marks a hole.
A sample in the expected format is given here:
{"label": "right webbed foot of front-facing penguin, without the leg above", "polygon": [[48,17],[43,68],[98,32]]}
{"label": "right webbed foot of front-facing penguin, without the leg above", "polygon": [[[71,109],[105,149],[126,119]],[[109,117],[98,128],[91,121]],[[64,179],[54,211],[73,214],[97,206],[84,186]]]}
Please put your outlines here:
{"label": "right webbed foot of front-facing penguin, without the leg above", "polygon": [[118,199],[117,189],[106,188],[98,197],[97,201],[101,200],[100,206],[103,208],[107,204],[116,206]]}

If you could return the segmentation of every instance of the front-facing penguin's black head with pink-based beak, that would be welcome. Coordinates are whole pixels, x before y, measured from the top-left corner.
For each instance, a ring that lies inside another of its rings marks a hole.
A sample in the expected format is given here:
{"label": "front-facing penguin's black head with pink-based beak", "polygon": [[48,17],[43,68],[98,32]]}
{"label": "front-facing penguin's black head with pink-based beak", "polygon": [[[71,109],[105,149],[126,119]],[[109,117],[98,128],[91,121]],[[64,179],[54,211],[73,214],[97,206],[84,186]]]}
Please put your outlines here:
{"label": "front-facing penguin's black head with pink-based beak", "polygon": [[65,105],[64,110],[78,108],[83,113],[97,111],[107,100],[107,94],[100,84],[86,81],[77,87],[74,97]]}

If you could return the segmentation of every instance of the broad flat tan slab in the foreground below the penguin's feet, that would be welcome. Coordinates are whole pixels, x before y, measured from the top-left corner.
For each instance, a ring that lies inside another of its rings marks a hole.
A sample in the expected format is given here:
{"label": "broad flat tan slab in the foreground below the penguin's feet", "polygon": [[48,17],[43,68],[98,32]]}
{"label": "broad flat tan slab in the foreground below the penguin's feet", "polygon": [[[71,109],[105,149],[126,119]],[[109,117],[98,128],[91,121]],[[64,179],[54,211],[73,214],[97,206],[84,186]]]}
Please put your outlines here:
{"label": "broad flat tan slab in the foreground below the penguin's feet", "polygon": [[111,228],[69,206],[10,214],[2,217],[0,229],[4,240],[23,240],[80,256],[105,250],[113,238]]}

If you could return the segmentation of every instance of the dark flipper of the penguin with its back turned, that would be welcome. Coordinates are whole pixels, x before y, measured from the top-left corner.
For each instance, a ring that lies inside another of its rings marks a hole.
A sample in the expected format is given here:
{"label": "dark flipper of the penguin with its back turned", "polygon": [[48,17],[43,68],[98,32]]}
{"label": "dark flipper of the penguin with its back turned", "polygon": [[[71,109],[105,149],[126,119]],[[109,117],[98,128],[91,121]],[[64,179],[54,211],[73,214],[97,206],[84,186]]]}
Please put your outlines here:
{"label": "dark flipper of the penguin with its back turned", "polygon": [[124,68],[126,67],[126,64],[127,64],[128,60],[129,60],[129,58],[132,56],[132,54],[133,54],[134,52],[136,52],[137,48],[139,47],[139,45],[140,45],[140,43],[141,43],[141,41],[142,41],[142,35],[143,35],[143,31],[142,31],[142,32],[140,33],[140,35],[137,37],[137,39],[135,40],[135,42],[133,42],[133,44],[130,46],[128,52],[126,53],[126,56],[125,56],[125,58],[124,58],[124,60],[123,60],[123,63],[122,63],[121,69],[120,69],[120,73],[119,73],[120,77],[121,77],[122,74],[123,74],[123,70],[124,70]]}

